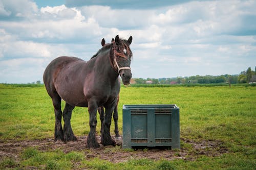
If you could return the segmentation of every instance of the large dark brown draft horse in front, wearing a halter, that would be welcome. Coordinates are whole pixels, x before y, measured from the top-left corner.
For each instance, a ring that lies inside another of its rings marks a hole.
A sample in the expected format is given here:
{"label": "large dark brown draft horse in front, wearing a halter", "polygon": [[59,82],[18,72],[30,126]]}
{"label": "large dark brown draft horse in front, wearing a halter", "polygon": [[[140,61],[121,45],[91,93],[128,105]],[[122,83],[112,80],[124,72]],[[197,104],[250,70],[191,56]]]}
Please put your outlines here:
{"label": "large dark brown draft horse in front, wearing a halter", "polygon": [[[88,148],[98,148],[96,141],[97,108],[104,106],[105,117],[101,143],[115,145],[110,136],[111,118],[117,105],[120,91],[118,76],[123,84],[129,84],[132,78],[130,44],[128,40],[119,39],[103,46],[88,62],[76,57],[58,57],[54,59],[44,72],[44,83],[48,94],[52,98],[55,112],[54,140],[75,141],[70,119],[75,106],[88,107],[90,114],[90,132],[87,137]],[[63,113],[61,99],[66,102]],[[62,130],[61,115],[64,119]]]}

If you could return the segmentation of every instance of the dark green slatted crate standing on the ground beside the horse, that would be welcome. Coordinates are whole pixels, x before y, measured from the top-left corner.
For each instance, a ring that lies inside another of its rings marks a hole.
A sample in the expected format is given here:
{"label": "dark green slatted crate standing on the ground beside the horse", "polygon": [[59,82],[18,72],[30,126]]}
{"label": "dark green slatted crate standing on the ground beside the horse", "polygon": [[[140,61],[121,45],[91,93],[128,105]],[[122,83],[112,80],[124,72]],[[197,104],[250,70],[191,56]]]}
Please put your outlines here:
{"label": "dark green slatted crate standing on the ground beside the horse", "polygon": [[176,105],[123,105],[123,148],[166,146],[180,149]]}

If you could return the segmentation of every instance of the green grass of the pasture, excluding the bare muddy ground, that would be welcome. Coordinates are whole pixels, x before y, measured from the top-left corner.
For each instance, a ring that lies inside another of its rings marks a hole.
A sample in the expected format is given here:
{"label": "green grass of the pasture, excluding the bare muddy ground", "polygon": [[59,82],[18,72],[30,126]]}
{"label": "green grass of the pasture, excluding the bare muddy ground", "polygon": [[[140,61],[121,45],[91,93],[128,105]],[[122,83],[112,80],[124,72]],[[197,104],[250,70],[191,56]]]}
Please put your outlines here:
{"label": "green grass of the pasture, excluding the bare muddy ground", "polygon": [[[218,140],[228,153],[217,157],[201,156],[193,161],[142,158],[112,163],[99,158],[88,161],[84,159],[83,152],[65,154],[59,150],[45,152],[37,148],[24,148],[18,161],[0,157],[0,169],[26,169],[30,166],[39,169],[256,169],[255,87],[122,86],[118,106],[121,134],[122,106],[129,104],[176,104],[180,108],[183,140]],[[52,102],[44,86],[0,84],[1,142],[53,138],[54,123]],[[90,130],[87,108],[76,107],[71,124],[76,136],[87,135]],[[114,134],[114,124],[111,126]],[[98,124],[98,133],[99,130]],[[181,147],[189,148],[183,140]]]}

